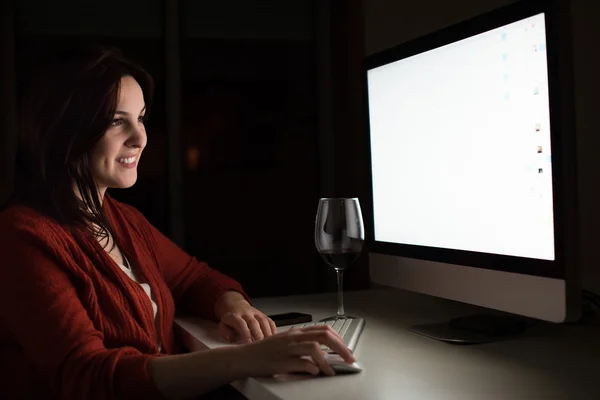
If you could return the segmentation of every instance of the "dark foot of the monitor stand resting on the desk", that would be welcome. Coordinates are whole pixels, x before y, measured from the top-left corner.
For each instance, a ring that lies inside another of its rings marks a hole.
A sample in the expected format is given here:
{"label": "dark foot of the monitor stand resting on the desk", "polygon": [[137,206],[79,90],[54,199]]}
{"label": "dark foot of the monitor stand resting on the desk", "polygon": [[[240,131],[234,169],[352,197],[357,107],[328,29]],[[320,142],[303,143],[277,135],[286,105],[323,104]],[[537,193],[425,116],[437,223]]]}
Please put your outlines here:
{"label": "dark foot of the monitor stand resting on the desk", "polygon": [[479,344],[509,339],[525,332],[530,319],[517,316],[477,314],[447,322],[414,325],[409,331],[453,344]]}

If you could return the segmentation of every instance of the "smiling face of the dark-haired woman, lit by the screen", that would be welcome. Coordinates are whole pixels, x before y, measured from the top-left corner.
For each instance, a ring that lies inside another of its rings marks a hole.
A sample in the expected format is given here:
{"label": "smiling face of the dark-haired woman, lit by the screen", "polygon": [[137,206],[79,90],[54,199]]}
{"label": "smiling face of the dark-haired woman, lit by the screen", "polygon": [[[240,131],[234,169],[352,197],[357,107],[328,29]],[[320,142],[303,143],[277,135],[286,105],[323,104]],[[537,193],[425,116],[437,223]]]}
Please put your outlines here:
{"label": "smiling face of the dark-haired woman, lit by the screen", "polygon": [[91,153],[92,173],[100,198],[107,188],[128,188],[137,180],[137,165],[146,147],[142,88],[131,76],[121,78],[110,127]]}

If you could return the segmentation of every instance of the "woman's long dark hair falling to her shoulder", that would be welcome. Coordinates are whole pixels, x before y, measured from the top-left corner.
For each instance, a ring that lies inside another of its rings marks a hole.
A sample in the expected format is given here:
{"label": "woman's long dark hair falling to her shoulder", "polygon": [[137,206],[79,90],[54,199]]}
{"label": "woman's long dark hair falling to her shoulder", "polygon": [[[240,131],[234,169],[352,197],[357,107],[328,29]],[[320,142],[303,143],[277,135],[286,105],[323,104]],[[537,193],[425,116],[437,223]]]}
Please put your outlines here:
{"label": "woman's long dark hair falling to her shoulder", "polygon": [[19,107],[15,202],[69,229],[104,238],[113,234],[90,153],[114,118],[124,76],[138,82],[149,111],[152,77],[116,49],[70,49],[39,69]]}

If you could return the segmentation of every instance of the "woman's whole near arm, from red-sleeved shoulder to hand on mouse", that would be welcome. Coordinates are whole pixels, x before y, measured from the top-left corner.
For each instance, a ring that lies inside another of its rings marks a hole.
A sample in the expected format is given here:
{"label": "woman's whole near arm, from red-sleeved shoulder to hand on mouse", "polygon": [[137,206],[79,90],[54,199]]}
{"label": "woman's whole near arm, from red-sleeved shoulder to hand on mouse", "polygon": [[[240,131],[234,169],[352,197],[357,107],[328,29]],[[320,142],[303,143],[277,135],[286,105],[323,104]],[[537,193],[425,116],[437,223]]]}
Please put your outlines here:
{"label": "woman's whole near arm, from red-sleeved shoulder to hand on mouse", "polygon": [[59,267],[61,255],[50,251],[55,246],[46,247],[27,232],[2,233],[7,232],[0,228],[5,261],[0,266],[1,325],[58,398],[187,398],[248,376],[331,373],[319,343],[353,360],[328,326],[293,329],[246,345],[187,355],[107,349],[103,333],[90,320],[91,310]]}

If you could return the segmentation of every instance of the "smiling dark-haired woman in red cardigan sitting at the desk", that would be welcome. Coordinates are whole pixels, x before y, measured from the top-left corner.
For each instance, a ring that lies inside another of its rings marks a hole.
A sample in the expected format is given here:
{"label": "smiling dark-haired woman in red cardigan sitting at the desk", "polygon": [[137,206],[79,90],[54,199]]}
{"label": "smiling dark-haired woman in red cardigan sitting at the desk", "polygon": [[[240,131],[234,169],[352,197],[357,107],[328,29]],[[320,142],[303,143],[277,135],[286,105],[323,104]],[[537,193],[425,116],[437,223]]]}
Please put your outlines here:
{"label": "smiling dark-haired woman in red cardigan sitting at the desk", "polygon": [[[107,188],[137,179],[152,79],[118,52],[63,54],[21,107],[17,187],[0,214],[0,397],[187,398],[248,376],[353,361],[328,327],[276,334],[233,279]],[[175,307],[242,344],[181,353]]]}

